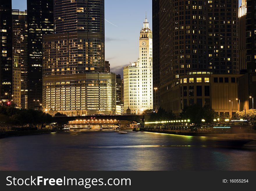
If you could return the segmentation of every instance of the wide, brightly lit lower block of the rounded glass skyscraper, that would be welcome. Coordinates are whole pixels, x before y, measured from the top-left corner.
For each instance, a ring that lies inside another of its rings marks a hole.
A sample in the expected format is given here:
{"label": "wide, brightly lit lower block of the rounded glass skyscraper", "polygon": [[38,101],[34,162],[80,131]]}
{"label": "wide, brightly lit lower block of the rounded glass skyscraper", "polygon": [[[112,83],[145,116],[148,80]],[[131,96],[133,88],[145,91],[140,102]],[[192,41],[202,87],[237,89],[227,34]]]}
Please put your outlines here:
{"label": "wide, brightly lit lower block of the rounded glass skyscraper", "polygon": [[115,114],[115,74],[44,76],[43,108],[73,115]]}

